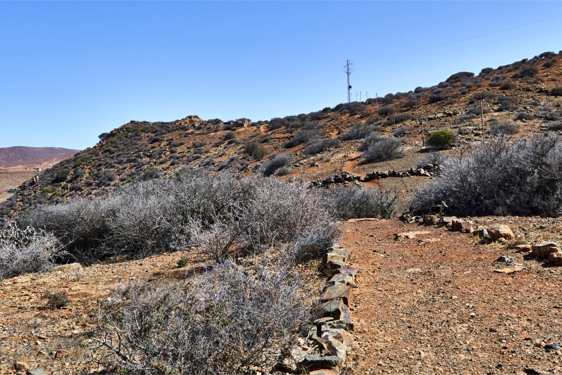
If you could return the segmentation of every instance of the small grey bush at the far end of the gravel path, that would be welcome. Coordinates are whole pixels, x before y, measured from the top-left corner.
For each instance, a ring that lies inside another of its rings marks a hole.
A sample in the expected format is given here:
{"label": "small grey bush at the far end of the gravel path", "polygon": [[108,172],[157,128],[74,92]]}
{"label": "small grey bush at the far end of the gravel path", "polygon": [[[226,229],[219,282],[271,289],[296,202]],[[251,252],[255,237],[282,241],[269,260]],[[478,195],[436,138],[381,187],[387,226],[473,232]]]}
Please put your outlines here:
{"label": "small grey bush at the far end of the gravel path", "polygon": [[327,195],[334,216],[341,220],[356,218],[390,219],[396,214],[396,189],[340,188]]}

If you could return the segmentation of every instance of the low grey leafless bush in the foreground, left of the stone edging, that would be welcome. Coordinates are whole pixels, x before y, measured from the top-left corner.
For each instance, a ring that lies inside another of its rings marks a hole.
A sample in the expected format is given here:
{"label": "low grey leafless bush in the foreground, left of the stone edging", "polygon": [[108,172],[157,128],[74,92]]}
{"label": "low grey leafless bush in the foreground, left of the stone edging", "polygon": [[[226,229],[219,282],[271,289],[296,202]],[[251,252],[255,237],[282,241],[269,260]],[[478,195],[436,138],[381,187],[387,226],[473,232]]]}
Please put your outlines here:
{"label": "low grey leafless bush in the foreground, left of the stone edging", "polygon": [[271,363],[311,320],[310,298],[286,264],[216,265],[194,286],[131,283],[103,306],[99,348],[129,373],[244,373]]}

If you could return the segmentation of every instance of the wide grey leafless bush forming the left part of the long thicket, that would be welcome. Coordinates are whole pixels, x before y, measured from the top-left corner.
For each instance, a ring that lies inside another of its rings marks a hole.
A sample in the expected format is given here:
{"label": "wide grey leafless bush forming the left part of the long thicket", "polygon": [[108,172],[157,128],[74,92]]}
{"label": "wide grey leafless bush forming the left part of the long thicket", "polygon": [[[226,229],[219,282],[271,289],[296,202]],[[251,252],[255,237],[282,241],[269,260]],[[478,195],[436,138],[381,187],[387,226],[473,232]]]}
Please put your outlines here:
{"label": "wide grey leafless bush forming the left part of the long thicket", "polygon": [[232,175],[186,173],[175,180],[129,184],[105,200],[44,207],[21,223],[52,232],[80,261],[121,252],[142,257],[182,248],[183,223],[209,220],[244,189]]}

